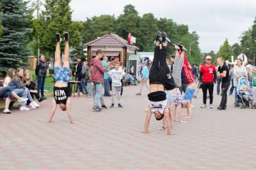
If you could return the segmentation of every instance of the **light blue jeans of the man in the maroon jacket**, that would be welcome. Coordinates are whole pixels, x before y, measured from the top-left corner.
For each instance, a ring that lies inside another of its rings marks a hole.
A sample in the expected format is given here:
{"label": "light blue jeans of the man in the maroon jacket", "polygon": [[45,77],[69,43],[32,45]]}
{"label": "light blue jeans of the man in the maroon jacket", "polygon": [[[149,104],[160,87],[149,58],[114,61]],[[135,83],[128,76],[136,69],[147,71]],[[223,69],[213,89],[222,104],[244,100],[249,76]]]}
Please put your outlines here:
{"label": "light blue jeans of the man in the maroon jacket", "polygon": [[93,107],[95,108],[100,108],[99,103],[101,103],[101,106],[104,105],[102,86],[102,83],[93,82]]}

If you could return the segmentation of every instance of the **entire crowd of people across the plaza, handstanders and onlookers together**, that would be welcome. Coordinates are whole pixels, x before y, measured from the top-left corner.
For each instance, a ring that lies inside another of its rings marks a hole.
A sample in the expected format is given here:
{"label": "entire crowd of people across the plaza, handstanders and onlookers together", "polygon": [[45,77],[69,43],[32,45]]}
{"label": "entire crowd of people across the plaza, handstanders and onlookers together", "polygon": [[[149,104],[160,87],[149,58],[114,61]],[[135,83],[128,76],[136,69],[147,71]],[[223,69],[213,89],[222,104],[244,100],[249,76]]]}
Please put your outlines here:
{"label": "entire crowd of people across the plaza, handstanders and onlookers together", "polygon": [[[51,116],[47,122],[52,122],[57,105],[61,110],[67,111],[70,123],[76,124],[72,118],[70,109],[70,87],[69,82],[72,79],[72,71],[69,62],[69,45],[68,33],[64,35],[65,53],[61,61],[60,52],[60,34],[56,34],[56,54],[54,60],[54,99],[52,100]],[[209,98],[209,108],[213,108],[214,99],[214,83],[217,84],[217,94],[221,94],[220,105],[218,110],[227,109],[228,89],[229,95],[235,90],[236,103],[237,87],[239,79],[247,78],[252,87],[252,92],[256,91],[256,67],[253,67],[251,61],[248,60],[246,66],[243,60],[237,59],[236,65],[229,64],[226,66],[225,61],[218,57],[217,65],[212,64],[211,56],[205,57],[205,64],[191,67],[187,57],[186,48],[182,45],[172,44],[175,49],[175,55],[168,59],[166,49],[170,46],[170,41],[166,41],[165,32],[157,32],[155,41],[154,59],[150,67],[147,62],[142,62],[140,75],[140,92],[136,96],[141,96],[143,87],[148,89],[149,105],[146,108],[147,117],[145,120],[145,129],[143,132],[148,133],[148,124],[152,113],[156,120],[163,119],[163,127],[160,129],[168,129],[167,134],[172,132],[173,122],[184,123],[184,118],[191,118],[193,97],[196,98],[200,89],[203,93],[203,102],[201,108],[207,108],[207,99]],[[3,87],[0,89],[0,97],[6,97],[6,104],[3,113],[11,113],[9,110],[12,98],[16,98],[20,103],[20,110],[28,111],[38,108],[38,102],[44,101],[44,83],[47,73],[47,64],[45,64],[44,55],[40,56],[40,60],[36,65],[36,81],[32,80],[28,69],[17,70],[10,68],[4,78]],[[117,106],[122,106],[123,81],[129,81],[131,85],[136,85],[136,75],[131,67],[129,73],[125,73],[125,67],[122,62],[118,62],[115,58],[104,56],[102,50],[97,50],[95,58],[87,61],[77,57],[76,71],[74,73],[76,81],[81,81],[79,86],[80,92],[86,97],[93,97],[92,111],[100,112],[102,109],[108,109],[104,102],[105,97],[112,97],[110,108],[115,106],[115,98],[117,98]],[[197,82],[197,85],[196,85]],[[220,89],[221,87],[221,89]],[[102,93],[104,89],[104,94]],[[243,85],[242,90],[248,90]],[[184,94],[182,94],[184,93]],[[256,94],[256,92],[255,92]],[[182,108],[187,110],[188,115],[182,116]]]}

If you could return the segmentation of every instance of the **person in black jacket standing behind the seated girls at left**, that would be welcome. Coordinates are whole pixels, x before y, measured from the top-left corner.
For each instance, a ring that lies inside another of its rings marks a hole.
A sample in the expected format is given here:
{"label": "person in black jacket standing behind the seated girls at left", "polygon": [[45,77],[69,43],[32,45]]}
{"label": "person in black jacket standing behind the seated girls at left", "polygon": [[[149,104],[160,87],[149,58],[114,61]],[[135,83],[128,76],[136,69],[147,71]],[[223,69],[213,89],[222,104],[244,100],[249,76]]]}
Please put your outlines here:
{"label": "person in black jacket standing behind the seated girls at left", "polygon": [[39,61],[36,64],[36,76],[37,76],[37,91],[38,91],[38,96],[40,96],[41,92],[41,99],[45,99],[44,97],[44,83],[45,83],[45,77],[47,73],[47,64],[45,62],[45,57],[44,55],[40,55]]}

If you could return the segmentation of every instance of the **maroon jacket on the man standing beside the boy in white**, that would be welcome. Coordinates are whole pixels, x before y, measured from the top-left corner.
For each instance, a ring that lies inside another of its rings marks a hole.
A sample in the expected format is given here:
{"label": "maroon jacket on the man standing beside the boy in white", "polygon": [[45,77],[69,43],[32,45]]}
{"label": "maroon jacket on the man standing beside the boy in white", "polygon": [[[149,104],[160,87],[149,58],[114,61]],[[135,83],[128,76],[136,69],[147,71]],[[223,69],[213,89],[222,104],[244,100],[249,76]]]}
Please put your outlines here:
{"label": "maroon jacket on the man standing beside the boy in white", "polygon": [[108,67],[103,67],[101,60],[96,57],[91,60],[91,80],[93,82],[103,83],[104,72],[108,69]]}

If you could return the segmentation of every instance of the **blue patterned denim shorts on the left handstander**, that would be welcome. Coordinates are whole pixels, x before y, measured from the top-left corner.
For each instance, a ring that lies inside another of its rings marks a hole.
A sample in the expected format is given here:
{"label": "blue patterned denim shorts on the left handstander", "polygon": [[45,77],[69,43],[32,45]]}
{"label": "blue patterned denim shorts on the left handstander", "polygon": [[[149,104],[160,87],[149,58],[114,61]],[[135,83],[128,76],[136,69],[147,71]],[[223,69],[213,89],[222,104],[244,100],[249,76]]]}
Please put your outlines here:
{"label": "blue patterned denim shorts on the left handstander", "polygon": [[68,83],[70,81],[69,67],[54,67],[54,81]]}

